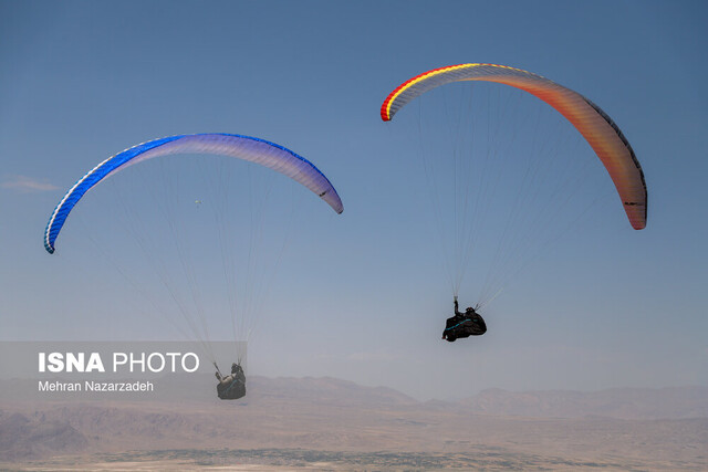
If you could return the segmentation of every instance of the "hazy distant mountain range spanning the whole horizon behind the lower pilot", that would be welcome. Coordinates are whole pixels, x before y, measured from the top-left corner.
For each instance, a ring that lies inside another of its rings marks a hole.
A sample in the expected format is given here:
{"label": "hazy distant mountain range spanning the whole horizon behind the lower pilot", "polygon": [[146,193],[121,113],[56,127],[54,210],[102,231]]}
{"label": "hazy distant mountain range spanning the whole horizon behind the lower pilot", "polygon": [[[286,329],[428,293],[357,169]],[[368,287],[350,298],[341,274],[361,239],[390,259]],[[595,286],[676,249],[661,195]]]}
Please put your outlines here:
{"label": "hazy distant mountain range spanning the whole horizon behind the lower pilot", "polygon": [[[39,401],[194,401],[210,403],[216,381],[210,377],[170,376],[155,380],[156,392],[102,394],[88,396],[38,392],[37,380],[0,380],[0,400]],[[418,401],[388,387],[367,387],[332,377],[249,376],[243,405],[326,405],[340,408],[412,408],[418,410],[465,411],[478,415],[529,418],[606,417],[617,419],[708,418],[708,387],[613,388],[596,391],[531,390],[508,391],[492,388],[458,400]]]}

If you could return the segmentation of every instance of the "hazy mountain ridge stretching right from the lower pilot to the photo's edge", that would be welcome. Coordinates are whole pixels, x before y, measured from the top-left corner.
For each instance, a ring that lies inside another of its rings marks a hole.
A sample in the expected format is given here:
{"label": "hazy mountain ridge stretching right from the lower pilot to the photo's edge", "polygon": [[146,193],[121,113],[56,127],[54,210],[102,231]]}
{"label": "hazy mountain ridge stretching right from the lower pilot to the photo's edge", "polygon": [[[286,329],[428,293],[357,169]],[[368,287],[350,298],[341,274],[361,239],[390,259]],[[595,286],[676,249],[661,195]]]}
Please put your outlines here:
{"label": "hazy mountain ridge stretching right from the lower pilot to the photo's edge", "polygon": [[249,401],[316,402],[347,407],[385,406],[530,418],[606,417],[632,420],[708,418],[708,387],[613,388],[596,391],[508,391],[492,388],[459,401],[420,402],[387,387],[365,387],[332,377],[252,376]]}

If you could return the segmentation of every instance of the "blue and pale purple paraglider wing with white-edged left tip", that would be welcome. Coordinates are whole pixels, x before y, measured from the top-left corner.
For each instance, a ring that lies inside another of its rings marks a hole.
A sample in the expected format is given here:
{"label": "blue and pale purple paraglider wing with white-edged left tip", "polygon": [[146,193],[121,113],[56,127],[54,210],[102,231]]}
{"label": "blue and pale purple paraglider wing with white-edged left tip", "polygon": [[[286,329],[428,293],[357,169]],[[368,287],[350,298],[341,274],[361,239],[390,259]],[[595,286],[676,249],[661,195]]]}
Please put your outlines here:
{"label": "blue and pale purple paraglider wing with white-edged left tip", "polygon": [[44,232],[44,248],[51,254],[66,217],[81,198],[106,177],[145,159],[174,154],[215,154],[230,156],[273,169],[302,183],[337,213],[342,200],[330,180],[312,162],[290,149],[264,139],[231,134],[196,134],[170,136],[125,149],[98,164],[66,192],[52,213]]}

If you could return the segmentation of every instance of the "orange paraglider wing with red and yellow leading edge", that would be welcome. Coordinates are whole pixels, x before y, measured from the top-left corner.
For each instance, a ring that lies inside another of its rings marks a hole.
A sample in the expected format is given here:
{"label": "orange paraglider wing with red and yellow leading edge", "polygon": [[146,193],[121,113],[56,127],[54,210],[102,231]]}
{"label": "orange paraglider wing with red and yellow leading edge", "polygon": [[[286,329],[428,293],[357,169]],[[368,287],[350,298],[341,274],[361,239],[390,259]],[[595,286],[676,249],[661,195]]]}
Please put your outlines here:
{"label": "orange paraglider wing with red and yellow leading edge", "polygon": [[617,125],[597,105],[545,77],[496,64],[459,64],[435,69],[410,78],[393,91],[381,107],[387,122],[412,99],[439,85],[460,81],[487,81],[511,85],[541,98],[561,113],[583,135],[612,178],[635,230],[646,227],[647,192],[644,172]]}

